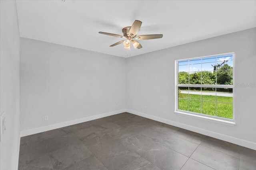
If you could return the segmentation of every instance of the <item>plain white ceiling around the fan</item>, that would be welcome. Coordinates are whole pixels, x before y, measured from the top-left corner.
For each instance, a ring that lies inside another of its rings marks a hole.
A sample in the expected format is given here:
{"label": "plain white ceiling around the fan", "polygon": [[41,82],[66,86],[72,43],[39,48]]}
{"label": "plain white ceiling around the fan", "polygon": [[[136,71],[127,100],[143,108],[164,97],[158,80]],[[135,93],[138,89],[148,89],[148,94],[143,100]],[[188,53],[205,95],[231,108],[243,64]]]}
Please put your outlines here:
{"label": "plain white ceiling around the fan", "polygon": [[[256,1],[17,0],[20,36],[99,53],[130,57],[256,27]],[[110,45],[122,28],[142,21],[142,49]]]}

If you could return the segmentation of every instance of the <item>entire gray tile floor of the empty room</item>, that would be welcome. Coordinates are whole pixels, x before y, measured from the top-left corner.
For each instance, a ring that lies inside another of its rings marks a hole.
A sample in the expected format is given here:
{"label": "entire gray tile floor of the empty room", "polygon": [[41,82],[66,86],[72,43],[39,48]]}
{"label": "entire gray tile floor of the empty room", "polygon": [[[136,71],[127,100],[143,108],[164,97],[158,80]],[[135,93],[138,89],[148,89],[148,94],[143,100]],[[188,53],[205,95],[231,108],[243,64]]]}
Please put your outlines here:
{"label": "entire gray tile floor of the empty room", "polygon": [[256,150],[120,113],[22,137],[19,170],[256,170]]}

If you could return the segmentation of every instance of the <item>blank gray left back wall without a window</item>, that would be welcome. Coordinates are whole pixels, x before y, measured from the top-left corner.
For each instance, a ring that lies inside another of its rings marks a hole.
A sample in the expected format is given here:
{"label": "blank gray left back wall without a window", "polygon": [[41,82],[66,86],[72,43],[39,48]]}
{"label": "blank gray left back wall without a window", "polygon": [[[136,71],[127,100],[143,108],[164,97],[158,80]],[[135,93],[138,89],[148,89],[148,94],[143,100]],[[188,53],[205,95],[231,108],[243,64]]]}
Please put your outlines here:
{"label": "blank gray left back wall without a window", "polygon": [[21,131],[126,108],[125,58],[20,41]]}

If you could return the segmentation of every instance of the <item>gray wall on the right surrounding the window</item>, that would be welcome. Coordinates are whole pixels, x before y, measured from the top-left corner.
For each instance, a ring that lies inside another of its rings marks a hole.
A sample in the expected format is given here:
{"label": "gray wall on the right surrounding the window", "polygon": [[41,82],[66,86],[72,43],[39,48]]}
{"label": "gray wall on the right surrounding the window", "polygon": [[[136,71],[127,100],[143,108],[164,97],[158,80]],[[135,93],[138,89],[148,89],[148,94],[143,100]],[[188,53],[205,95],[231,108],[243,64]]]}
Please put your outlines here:
{"label": "gray wall on the right surrounding the window", "polygon": [[127,109],[246,140],[255,147],[256,87],[235,87],[234,127],[174,113],[175,60],[230,52],[236,57],[235,83],[256,84],[256,28],[128,58]]}

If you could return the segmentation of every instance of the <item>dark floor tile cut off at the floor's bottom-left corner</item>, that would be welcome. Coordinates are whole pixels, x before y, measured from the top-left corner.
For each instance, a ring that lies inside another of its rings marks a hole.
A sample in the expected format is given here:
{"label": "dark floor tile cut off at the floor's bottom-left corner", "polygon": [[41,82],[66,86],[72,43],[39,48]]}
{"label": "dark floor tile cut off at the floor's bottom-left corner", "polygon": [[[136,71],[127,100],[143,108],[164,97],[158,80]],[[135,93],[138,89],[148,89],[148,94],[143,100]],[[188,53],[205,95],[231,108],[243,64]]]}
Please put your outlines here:
{"label": "dark floor tile cut off at the floor's bottom-left corner", "polygon": [[53,170],[53,166],[50,156],[45,154],[44,156],[26,162],[23,167],[19,165],[19,170]]}

